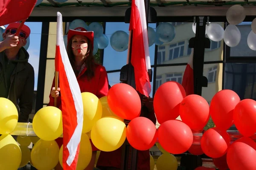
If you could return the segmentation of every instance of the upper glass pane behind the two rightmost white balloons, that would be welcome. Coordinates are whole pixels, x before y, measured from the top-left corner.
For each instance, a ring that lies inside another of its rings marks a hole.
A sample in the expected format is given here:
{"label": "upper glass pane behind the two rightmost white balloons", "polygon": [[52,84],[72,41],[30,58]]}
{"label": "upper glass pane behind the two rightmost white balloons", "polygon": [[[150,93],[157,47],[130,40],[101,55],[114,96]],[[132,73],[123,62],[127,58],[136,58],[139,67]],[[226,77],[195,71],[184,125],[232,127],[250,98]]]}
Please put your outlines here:
{"label": "upper glass pane behind the two rightmost white balloons", "polygon": [[243,22],[237,25],[241,33],[241,40],[236,47],[230,48],[230,57],[256,57],[256,51],[253,51],[247,45],[247,37],[251,28],[250,22]]}

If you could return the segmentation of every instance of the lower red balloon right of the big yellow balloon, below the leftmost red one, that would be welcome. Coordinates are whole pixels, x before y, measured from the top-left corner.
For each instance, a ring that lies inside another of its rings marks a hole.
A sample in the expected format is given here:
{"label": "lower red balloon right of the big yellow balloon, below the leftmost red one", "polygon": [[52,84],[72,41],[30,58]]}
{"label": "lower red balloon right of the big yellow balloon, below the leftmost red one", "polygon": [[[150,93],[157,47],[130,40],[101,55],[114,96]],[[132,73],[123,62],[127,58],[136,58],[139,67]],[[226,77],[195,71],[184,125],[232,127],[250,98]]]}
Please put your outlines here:
{"label": "lower red balloon right of the big yellow balloon, below the leftmost red one", "polygon": [[126,129],[128,142],[137,150],[148,150],[157,141],[157,128],[154,123],[145,117],[136,117],[131,120]]}

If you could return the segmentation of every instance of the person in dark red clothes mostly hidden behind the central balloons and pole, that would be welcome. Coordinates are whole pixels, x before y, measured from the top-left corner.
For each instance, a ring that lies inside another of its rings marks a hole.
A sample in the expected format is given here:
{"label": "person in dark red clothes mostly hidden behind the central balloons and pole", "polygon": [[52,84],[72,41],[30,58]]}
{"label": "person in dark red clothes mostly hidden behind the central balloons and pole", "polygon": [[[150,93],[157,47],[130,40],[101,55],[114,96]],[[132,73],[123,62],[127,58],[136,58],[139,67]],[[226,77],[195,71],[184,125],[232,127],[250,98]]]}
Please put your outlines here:
{"label": "person in dark red clothes mostly hidden behind the central balloons and pole", "polygon": [[[142,108],[140,116],[150,119],[156,124],[156,116],[153,109],[153,99],[151,97],[140,95],[142,101]],[[121,169],[122,147],[112,152],[100,152],[97,167],[100,170],[120,170]],[[136,170],[150,170],[150,155],[149,150],[138,150],[137,152],[137,169]]]}

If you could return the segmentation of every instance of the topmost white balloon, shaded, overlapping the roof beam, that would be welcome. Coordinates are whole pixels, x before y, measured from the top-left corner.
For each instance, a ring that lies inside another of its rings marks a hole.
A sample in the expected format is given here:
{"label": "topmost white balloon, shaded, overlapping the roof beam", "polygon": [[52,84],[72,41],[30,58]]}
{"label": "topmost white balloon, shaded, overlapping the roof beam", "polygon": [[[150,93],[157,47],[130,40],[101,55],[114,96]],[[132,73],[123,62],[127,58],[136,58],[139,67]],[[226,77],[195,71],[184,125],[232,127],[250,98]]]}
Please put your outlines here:
{"label": "topmost white balloon, shaded, overlapping the roof beam", "polygon": [[228,10],[227,10],[227,22],[232,24],[232,25],[238,25],[241,22],[244,21],[246,14],[245,14],[245,10],[244,7],[241,5],[234,5],[231,6]]}

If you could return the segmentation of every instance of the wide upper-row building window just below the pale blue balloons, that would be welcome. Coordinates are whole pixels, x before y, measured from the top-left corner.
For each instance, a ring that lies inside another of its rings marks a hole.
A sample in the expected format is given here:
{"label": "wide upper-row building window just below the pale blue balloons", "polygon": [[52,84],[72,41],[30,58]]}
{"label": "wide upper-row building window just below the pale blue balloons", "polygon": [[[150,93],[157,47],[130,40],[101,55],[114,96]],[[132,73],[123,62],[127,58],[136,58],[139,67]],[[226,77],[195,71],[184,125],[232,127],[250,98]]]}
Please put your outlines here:
{"label": "wide upper-row building window just below the pale blue balloons", "polygon": [[169,60],[183,57],[185,41],[171,44],[169,46]]}

